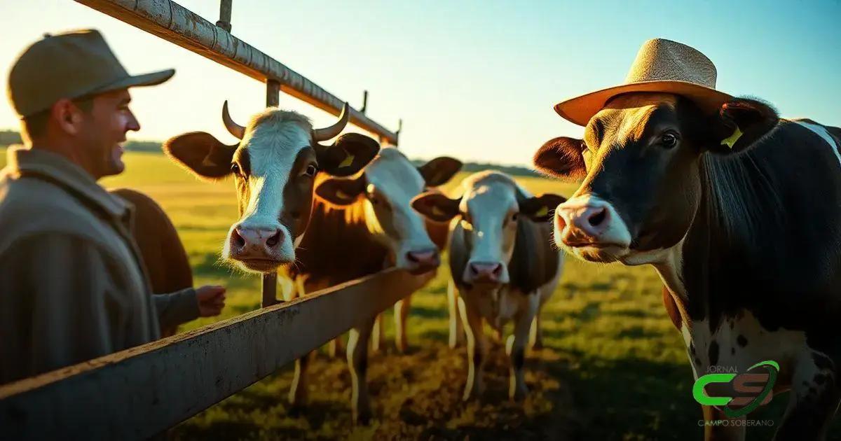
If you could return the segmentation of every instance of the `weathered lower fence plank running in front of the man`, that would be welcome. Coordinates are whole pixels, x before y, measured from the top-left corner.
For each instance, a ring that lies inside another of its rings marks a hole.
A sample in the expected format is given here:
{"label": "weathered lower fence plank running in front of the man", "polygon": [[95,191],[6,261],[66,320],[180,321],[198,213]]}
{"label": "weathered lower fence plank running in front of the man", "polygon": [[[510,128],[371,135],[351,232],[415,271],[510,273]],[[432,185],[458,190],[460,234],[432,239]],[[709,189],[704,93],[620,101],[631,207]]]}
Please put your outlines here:
{"label": "weathered lower fence plank running in front of the man", "polygon": [[0,386],[0,438],[149,438],[372,318],[432,276],[386,270]]}

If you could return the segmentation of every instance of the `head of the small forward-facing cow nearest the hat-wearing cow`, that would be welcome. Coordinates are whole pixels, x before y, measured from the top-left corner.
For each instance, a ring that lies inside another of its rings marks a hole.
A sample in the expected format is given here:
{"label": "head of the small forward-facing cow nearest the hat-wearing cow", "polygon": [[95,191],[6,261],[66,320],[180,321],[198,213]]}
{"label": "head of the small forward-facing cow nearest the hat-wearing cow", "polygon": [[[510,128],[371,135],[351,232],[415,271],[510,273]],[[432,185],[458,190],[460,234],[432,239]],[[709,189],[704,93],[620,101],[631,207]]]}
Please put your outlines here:
{"label": "head of the small forward-facing cow nearest the hat-wearing cow", "polygon": [[[450,199],[440,193],[421,195],[413,206],[439,222],[458,218],[464,230],[468,265],[460,275],[464,283],[504,284],[510,281],[508,264],[516,243],[521,216],[547,221],[563,197],[544,194],[532,197],[502,173],[480,172],[463,181],[464,194]],[[453,275],[456,276],[456,275]]]}

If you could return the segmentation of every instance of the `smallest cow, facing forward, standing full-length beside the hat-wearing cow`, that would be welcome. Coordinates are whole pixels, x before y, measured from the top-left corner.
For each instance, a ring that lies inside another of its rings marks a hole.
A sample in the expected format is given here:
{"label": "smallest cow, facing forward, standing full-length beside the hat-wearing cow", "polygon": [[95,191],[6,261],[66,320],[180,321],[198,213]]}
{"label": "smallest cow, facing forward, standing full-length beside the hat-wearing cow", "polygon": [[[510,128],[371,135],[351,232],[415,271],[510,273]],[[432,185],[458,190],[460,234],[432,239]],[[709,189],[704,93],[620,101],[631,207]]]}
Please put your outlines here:
{"label": "smallest cow, facing forward, standing full-length beside the hat-wearing cow", "polygon": [[[563,197],[534,197],[497,171],[480,171],[463,181],[463,196],[441,193],[416,197],[412,206],[436,222],[451,222],[449,257],[452,284],[468,337],[468,381],[465,401],[482,394],[482,367],[487,355],[483,319],[501,333],[512,320],[506,351],[510,357],[508,395],[526,396],[523,376],[530,330],[542,344],[540,309],[558,286],[562,255],[550,243],[547,222]],[[452,221],[451,221],[452,219]],[[452,332],[452,327],[451,327]],[[451,335],[451,342],[453,336]]]}

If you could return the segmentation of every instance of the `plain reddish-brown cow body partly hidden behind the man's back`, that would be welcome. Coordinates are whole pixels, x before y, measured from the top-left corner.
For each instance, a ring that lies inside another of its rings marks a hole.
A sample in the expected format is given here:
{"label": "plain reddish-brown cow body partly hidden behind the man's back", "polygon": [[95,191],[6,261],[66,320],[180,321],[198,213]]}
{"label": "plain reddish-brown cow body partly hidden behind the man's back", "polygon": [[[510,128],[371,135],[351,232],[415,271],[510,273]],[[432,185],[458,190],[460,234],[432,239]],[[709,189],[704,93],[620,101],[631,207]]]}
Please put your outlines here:
{"label": "plain reddish-brown cow body partly hidden behind the man's back", "polygon": [[[151,197],[129,188],[109,191],[134,207],[131,234],[143,259],[152,292],[181,291],[193,286],[187,251],[167,213]],[[161,328],[161,336],[174,335],[177,327]]]}

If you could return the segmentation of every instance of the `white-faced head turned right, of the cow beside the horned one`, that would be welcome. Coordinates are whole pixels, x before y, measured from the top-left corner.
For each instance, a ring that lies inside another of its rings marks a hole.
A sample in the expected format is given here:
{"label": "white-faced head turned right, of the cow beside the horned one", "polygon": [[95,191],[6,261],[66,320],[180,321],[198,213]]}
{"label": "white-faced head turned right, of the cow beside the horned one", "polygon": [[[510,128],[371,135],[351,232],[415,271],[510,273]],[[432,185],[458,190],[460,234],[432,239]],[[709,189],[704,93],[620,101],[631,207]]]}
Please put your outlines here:
{"label": "white-faced head turned right, of the cow beside the horned one", "polygon": [[361,176],[328,179],[315,193],[340,207],[362,204],[368,229],[389,247],[395,265],[421,273],[436,268],[440,257],[411,201],[426,187],[449,181],[461,166],[458,160],[441,157],[415,167],[399,150],[383,149]]}

